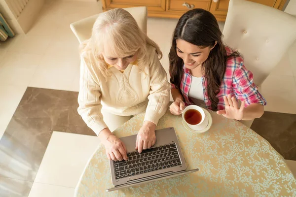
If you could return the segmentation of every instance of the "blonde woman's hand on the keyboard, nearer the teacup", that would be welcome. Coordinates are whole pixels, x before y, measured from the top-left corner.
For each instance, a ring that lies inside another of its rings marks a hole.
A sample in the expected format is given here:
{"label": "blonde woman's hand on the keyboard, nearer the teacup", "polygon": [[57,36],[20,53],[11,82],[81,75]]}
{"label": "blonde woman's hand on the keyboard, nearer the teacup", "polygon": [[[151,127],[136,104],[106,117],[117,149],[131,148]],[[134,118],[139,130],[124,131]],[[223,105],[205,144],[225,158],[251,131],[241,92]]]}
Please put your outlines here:
{"label": "blonde woman's hand on the keyboard, nearer the teacup", "polygon": [[138,150],[139,153],[141,153],[143,149],[148,149],[155,144],[155,128],[156,125],[154,123],[150,121],[144,122],[138,132],[136,141],[136,150]]}

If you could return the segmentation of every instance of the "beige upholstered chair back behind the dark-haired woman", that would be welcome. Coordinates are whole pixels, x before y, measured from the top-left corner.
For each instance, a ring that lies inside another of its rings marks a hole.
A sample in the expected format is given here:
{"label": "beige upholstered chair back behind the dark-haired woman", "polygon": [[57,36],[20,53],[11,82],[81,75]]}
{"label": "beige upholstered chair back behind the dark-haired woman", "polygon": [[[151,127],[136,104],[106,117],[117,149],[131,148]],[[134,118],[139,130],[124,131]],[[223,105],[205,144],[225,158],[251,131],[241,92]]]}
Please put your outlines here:
{"label": "beige upholstered chair back behind the dark-haired woman", "polygon": [[260,86],[296,40],[296,17],[259,3],[230,0],[223,35]]}

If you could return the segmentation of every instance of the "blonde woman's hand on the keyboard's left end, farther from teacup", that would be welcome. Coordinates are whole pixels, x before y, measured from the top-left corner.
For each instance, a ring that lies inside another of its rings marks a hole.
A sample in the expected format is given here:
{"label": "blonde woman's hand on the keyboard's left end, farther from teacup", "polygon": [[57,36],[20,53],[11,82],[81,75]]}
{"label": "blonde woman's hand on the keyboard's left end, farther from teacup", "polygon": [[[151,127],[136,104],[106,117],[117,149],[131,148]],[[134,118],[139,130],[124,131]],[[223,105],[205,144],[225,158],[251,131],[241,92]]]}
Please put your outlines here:
{"label": "blonde woman's hand on the keyboard's left end, farther from teacup", "polygon": [[108,159],[114,161],[122,161],[123,159],[127,161],[128,158],[126,155],[126,147],[124,143],[118,137],[113,135],[111,131],[106,131],[106,134],[102,133],[102,135],[103,136],[101,137],[100,133],[100,139],[105,146]]}

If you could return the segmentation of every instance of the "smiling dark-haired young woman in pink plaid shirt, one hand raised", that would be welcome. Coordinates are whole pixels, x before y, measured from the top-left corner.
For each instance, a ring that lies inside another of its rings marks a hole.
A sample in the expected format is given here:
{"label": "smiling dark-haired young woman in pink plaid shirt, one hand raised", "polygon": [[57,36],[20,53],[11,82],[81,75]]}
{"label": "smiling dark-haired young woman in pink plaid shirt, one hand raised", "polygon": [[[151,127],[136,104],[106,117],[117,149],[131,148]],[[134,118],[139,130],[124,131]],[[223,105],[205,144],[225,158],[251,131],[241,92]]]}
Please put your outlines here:
{"label": "smiling dark-haired young woman in pink plaid shirt, one hand raised", "polygon": [[252,72],[238,52],[223,44],[218,22],[210,12],[193,9],[179,19],[169,60],[172,114],[180,115],[190,104],[205,105],[236,120],[252,120],[264,113],[266,100]]}

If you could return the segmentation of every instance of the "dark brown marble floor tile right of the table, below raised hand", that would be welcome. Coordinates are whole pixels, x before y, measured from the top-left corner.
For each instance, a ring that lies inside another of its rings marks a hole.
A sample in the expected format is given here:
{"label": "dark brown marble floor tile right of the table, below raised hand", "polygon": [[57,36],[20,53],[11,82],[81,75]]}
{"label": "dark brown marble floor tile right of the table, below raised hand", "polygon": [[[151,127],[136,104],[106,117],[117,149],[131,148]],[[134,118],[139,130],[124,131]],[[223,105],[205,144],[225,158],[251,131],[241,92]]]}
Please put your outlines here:
{"label": "dark brown marble floor tile right of the table, below raised hand", "polygon": [[286,160],[296,160],[296,115],[265,111],[252,130],[265,138]]}

